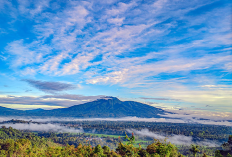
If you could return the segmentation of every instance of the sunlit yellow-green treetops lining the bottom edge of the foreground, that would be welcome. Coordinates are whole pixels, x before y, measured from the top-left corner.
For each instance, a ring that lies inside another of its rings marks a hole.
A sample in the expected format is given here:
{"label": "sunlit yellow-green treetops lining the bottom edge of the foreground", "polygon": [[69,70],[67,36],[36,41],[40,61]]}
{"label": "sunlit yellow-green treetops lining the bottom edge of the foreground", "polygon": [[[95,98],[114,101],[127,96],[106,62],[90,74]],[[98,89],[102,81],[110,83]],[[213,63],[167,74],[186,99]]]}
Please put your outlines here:
{"label": "sunlit yellow-green treetops lining the bottom edge of the foreground", "polygon": [[97,145],[67,145],[65,147],[49,146],[38,147],[32,145],[29,139],[19,140],[1,140],[0,156],[59,156],[59,157],[121,157],[121,156],[181,156],[172,144],[163,144],[160,142],[149,145],[147,149],[136,148],[132,144],[119,143],[116,151],[110,150],[109,147]]}

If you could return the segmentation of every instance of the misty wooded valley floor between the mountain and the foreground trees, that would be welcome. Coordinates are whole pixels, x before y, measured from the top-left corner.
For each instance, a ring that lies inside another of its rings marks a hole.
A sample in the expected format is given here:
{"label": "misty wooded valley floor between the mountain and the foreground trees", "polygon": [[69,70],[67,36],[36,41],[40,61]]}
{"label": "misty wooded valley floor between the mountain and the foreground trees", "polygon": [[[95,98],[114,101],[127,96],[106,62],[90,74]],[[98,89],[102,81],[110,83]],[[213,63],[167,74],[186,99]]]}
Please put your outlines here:
{"label": "misty wooded valley floor between the mountain and the foreground trees", "polygon": [[[222,150],[221,145],[232,134],[232,127],[202,124],[154,123],[131,121],[50,121],[36,122],[12,119],[1,122],[0,126],[13,127],[26,134],[47,138],[62,146],[79,144],[108,146],[116,150],[118,143],[126,144],[125,136],[135,136],[135,147],[146,149],[154,143],[154,139],[171,142],[179,152],[191,156],[191,145],[198,145],[199,156],[204,153],[214,156],[216,150]],[[25,137],[25,136],[23,136]],[[0,139],[6,138],[1,133]],[[14,135],[8,138],[15,138]],[[19,138],[19,137],[16,137]]]}

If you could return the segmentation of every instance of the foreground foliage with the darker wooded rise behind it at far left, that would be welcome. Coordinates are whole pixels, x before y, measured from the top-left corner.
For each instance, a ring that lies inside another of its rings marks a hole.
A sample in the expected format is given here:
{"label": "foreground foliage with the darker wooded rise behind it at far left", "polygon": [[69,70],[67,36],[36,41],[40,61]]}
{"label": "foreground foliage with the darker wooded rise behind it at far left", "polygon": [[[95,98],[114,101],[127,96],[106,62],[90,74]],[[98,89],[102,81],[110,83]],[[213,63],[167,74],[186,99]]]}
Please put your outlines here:
{"label": "foreground foliage with the darker wooded rise behind it at far left", "polygon": [[[16,139],[0,139],[0,156],[54,156],[54,157],[152,157],[152,156],[178,156],[178,152],[175,146],[172,144],[161,143],[156,141],[152,145],[149,145],[147,149],[133,146],[135,142],[134,134],[131,137],[126,135],[128,142],[123,144],[119,142],[116,151],[110,150],[108,146],[97,145],[92,147],[88,141],[85,145],[79,144],[77,147],[67,144],[66,146],[60,146],[52,142],[48,138],[39,137],[35,134],[22,133],[13,128],[3,127],[3,136],[8,134],[14,134],[16,137],[23,136],[24,138]],[[10,133],[11,132],[11,133]],[[5,133],[5,134],[4,134]],[[56,135],[51,135],[53,138],[57,138]],[[155,154],[150,150],[155,150]]]}

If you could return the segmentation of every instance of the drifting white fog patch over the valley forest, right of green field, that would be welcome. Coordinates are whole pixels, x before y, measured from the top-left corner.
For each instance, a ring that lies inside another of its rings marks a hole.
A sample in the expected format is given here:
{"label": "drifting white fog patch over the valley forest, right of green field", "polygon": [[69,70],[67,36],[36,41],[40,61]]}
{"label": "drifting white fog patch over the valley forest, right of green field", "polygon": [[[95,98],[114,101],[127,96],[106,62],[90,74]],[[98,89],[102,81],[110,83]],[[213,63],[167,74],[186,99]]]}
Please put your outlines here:
{"label": "drifting white fog patch over the valley forest, right of green field", "polygon": [[220,143],[212,141],[212,140],[201,140],[201,141],[193,141],[193,138],[191,136],[184,136],[184,135],[170,135],[170,136],[164,136],[162,134],[157,134],[154,132],[149,131],[148,129],[142,129],[142,130],[136,130],[136,129],[127,129],[126,130],[129,133],[134,133],[137,136],[140,137],[151,137],[155,138],[157,140],[160,140],[161,142],[166,139],[166,142],[171,142],[172,144],[176,145],[191,145],[196,144],[200,146],[209,146],[209,147],[217,147],[220,146]]}

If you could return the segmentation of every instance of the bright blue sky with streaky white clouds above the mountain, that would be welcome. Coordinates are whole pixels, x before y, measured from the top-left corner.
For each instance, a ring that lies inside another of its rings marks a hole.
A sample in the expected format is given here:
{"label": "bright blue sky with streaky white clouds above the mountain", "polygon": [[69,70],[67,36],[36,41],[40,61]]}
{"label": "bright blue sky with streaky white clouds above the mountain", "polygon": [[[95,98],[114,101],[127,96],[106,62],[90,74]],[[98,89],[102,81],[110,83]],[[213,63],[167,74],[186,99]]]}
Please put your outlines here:
{"label": "bright blue sky with streaky white clouds above the mountain", "polygon": [[0,0],[0,106],[114,96],[231,115],[231,8],[229,0]]}

